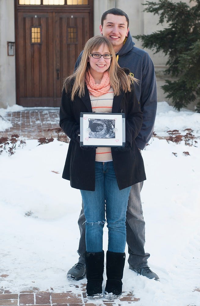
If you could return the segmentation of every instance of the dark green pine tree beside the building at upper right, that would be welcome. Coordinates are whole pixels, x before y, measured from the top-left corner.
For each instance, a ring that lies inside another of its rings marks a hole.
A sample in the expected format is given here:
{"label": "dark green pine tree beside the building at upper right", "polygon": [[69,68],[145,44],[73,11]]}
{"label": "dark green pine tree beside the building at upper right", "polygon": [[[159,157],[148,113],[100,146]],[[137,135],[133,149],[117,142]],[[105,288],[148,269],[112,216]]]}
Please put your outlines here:
{"label": "dark green pine tree beside the building at upper right", "polygon": [[164,72],[175,80],[165,80],[162,88],[174,107],[180,110],[197,101],[196,111],[200,113],[200,0],[193,0],[193,4],[147,1],[144,11],[157,14],[158,24],[167,21],[167,28],[135,38],[142,40],[143,47],[168,55]]}

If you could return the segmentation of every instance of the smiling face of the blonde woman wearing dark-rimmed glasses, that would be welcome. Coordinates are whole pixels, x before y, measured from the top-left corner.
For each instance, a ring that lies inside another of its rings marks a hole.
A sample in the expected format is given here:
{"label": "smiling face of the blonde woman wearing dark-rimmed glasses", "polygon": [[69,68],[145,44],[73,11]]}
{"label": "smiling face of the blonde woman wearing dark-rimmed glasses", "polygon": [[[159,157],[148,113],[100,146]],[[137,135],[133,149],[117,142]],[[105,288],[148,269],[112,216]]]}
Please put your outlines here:
{"label": "smiling face of the blonde woman wearing dark-rimmed glasses", "polygon": [[[110,51],[108,47],[105,45],[101,45],[98,49],[92,50],[91,54],[110,54]],[[101,56],[100,58],[93,58],[91,55],[89,55],[89,71],[91,75],[93,74],[100,75],[104,74],[104,72],[110,67],[111,64],[111,58],[103,58]]]}

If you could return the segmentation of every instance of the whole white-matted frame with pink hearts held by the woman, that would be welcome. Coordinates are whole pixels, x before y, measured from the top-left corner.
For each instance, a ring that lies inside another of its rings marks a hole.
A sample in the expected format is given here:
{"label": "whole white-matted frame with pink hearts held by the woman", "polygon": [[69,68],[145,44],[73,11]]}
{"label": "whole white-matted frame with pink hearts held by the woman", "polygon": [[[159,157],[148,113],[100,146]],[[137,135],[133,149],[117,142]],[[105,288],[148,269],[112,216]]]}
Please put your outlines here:
{"label": "whole white-matted frame with pink hearts held by the woman", "polygon": [[124,113],[81,113],[80,146],[124,147]]}

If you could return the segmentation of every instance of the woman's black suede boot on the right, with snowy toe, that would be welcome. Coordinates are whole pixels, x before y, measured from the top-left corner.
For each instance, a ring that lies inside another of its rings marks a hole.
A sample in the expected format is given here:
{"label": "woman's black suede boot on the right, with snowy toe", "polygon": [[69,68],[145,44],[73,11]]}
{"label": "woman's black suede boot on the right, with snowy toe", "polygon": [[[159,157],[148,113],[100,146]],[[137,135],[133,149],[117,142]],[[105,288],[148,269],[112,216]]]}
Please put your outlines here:
{"label": "woman's black suede boot on the right, with snowy toe", "polygon": [[125,253],[106,253],[106,288],[104,297],[116,299],[122,294],[122,277],[125,264]]}

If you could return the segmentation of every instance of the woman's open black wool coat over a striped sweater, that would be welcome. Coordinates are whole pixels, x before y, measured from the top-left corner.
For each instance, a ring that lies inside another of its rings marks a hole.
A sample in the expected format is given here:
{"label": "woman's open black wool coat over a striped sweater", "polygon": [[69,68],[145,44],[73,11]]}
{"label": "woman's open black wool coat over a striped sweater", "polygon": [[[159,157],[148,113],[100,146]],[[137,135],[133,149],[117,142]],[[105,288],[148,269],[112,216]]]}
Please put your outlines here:
{"label": "woman's open black wool coat over a striped sweater", "polygon": [[[75,96],[71,101],[71,93],[62,93],[60,106],[60,127],[69,136],[70,143],[62,177],[70,181],[71,187],[82,190],[95,190],[95,155],[96,149],[84,150],[77,140],[80,131],[80,113],[92,113],[89,92],[85,85],[85,96]],[[119,189],[132,186],[146,180],[144,163],[135,138],[142,126],[142,112],[135,95],[121,92],[114,96],[112,113],[125,113],[127,151],[118,151],[111,147],[113,164]]]}

